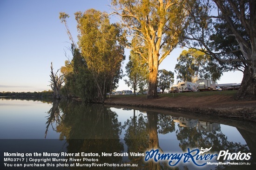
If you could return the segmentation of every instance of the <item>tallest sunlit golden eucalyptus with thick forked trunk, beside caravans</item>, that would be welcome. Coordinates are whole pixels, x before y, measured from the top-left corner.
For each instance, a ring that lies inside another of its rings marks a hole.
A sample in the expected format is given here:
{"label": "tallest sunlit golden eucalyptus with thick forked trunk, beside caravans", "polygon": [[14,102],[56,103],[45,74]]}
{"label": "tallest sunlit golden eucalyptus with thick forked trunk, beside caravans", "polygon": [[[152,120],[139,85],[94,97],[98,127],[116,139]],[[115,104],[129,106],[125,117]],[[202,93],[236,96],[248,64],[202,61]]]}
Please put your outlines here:
{"label": "tallest sunlit golden eucalyptus with thick forked trunk, beside caravans", "polygon": [[148,99],[157,97],[159,64],[181,40],[187,22],[183,3],[183,0],[112,0],[113,13],[121,17],[131,40],[128,47],[148,63]]}

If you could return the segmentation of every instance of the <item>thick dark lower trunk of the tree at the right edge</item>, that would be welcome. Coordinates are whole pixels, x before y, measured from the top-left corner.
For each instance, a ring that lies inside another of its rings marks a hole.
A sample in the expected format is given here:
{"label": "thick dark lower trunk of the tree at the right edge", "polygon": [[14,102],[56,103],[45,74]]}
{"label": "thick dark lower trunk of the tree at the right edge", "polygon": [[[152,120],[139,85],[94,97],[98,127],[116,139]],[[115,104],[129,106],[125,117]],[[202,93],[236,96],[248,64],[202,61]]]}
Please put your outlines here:
{"label": "thick dark lower trunk of the tree at the right edge", "polygon": [[247,66],[243,72],[243,80],[237,93],[236,100],[256,100],[256,67]]}

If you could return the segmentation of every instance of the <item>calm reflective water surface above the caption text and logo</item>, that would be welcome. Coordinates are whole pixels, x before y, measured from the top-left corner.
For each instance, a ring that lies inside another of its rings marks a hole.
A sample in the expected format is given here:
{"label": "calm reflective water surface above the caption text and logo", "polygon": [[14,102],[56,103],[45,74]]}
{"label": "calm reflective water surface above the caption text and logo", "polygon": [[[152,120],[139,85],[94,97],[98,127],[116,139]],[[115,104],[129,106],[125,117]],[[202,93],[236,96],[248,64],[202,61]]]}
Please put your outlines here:
{"label": "calm reflective water surface above the caption text and logo", "polygon": [[[40,143],[42,152],[47,149],[49,152],[69,153],[143,153],[147,148],[159,145],[165,153],[212,147],[211,153],[229,150],[230,153],[240,151],[256,155],[255,123],[198,117],[190,113],[104,107],[67,101],[47,103],[0,98],[0,140],[13,152],[25,152],[26,149],[33,152],[30,146]],[[2,148],[2,151],[6,150]],[[101,161],[133,161],[139,164],[138,170],[156,169],[131,156]],[[249,162],[255,164],[255,159]],[[162,169],[170,168],[167,164],[161,166]],[[176,167],[179,170],[197,168],[192,163],[178,164]],[[250,169],[251,166],[207,165],[202,169],[229,168]]]}

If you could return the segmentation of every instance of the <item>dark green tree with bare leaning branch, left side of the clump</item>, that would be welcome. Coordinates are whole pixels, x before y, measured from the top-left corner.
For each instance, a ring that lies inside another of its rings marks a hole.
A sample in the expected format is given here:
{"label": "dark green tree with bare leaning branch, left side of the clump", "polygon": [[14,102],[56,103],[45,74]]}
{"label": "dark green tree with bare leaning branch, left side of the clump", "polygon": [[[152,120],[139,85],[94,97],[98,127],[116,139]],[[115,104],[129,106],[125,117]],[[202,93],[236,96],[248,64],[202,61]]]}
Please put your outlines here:
{"label": "dark green tree with bare leaning branch, left side of the clump", "polygon": [[65,85],[61,88],[61,94],[67,98],[79,97],[82,101],[94,101],[97,96],[94,79],[91,76],[91,71],[88,69],[85,57],[82,56],[81,50],[77,46],[72,37],[67,25],[67,13],[60,13],[61,23],[65,25],[67,35],[71,41],[71,47],[68,49],[72,53],[72,58],[65,56],[68,60],[65,61],[65,66],[61,67],[61,73],[65,75]]}

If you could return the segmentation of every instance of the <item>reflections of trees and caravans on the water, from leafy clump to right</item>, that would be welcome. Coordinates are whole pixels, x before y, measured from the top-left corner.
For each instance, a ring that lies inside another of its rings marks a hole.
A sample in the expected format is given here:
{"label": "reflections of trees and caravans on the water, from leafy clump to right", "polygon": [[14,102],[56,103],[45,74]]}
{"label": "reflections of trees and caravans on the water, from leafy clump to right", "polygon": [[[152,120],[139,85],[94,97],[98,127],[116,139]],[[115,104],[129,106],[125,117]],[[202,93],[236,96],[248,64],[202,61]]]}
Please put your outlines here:
{"label": "reflections of trees and caravans on the water, from leafy clump to right", "polygon": [[[144,153],[147,149],[159,149],[162,152],[168,151],[168,145],[161,145],[163,142],[159,134],[164,136],[175,137],[178,147],[182,151],[188,148],[210,148],[211,153],[218,153],[222,150],[229,150],[230,153],[248,153],[252,156],[256,155],[255,148],[255,126],[241,126],[238,122],[237,131],[242,135],[246,144],[228,140],[228,133],[222,132],[220,123],[210,122],[200,119],[191,119],[182,116],[172,116],[170,114],[162,114],[154,111],[139,112],[135,114],[135,110],[122,109],[125,112],[132,112],[132,116],[126,121],[121,122],[118,119],[120,113],[112,111],[110,107],[103,105],[87,105],[78,102],[61,102],[54,103],[53,108],[48,112],[47,128],[52,125],[56,132],[60,133],[60,139],[67,142],[67,151],[76,152],[94,152],[94,153],[122,153],[135,152]],[[225,122],[223,120],[223,122]],[[229,121],[234,126],[234,121]],[[55,127],[53,125],[56,125]],[[251,129],[249,127],[254,127]],[[230,133],[234,128],[230,128]],[[248,130],[249,129],[249,130]],[[124,136],[124,141],[120,138]],[[47,135],[47,132],[46,132]],[[168,139],[168,137],[166,137]],[[173,142],[173,141],[172,141]],[[175,143],[175,142],[173,142]],[[164,149],[162,149],[164,148]],[[95,157],[96,158],[96,157]],[[166,162],[147,162],[143,161],[143,157],[130,155],[126,157],[98,157],[98,163],[127,163],[138,164],[138,167],[131,167],[131,170],[193,170],[187,164],[178,167],[170,167]],[[224,160],[219,160],[224,162]],[[241,162],[236,160],[235,162]],[[250,160],[255,164],[255,159]],[[248,169],[250,166],[228,166],[219,165],[211,166],[207,169]],[[113,167],[108,167],[113,169]],[[79,167],[71,167],[71,169],[79,169]],[[97,169],[97,168],[95,168]],[[100,168],[99,168],[100,169]],[[107,168],[106,168],[107,169]],[[118,169],[118,168],[115,168]]]}

